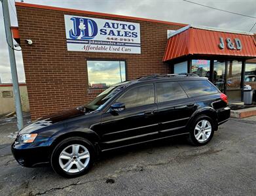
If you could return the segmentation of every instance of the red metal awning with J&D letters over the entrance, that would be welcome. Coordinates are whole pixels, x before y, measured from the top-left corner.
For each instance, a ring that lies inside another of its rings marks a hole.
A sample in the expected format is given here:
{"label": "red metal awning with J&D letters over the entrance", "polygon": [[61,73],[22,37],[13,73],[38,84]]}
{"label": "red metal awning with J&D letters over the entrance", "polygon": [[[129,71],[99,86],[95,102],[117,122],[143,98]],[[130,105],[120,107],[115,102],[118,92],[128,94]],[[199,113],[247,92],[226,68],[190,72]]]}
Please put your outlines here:
{"label": "red metal awning with J&D letters over the entrance", "polygon": [[253,34],[183,27],[168,39],[163,61],[188,55],[256,57]]}

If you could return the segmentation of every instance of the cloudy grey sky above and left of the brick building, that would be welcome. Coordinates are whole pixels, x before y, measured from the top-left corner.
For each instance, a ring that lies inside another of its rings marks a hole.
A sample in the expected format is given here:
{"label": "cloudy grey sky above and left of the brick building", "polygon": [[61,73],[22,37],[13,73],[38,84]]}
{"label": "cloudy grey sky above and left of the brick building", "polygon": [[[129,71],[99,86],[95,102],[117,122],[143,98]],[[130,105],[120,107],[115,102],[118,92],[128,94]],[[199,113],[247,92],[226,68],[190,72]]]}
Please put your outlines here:
{"label": "cloudy grey sky above and left of the brick building", "polygon": [[[18,0],[16,0],[18,1]],[[210,7],[238,12],[256,17],[256,0],[191,0],[195,3]],[[20,1],[19,1],[20,2]],[[249,31],[255,18],[238,16],[200,5],[194,5],[183,0],[24,0],[24,3],[49,5],[54,7],[75,8],[94,12],[105,12],[125,16],[136,16],[156,20],[166,20],[192,25],[221,27],[238,31]],[[1,3],[0,3],[1,5]],[[11,6],[12,7],[11,7]],[[11,25],[18,25],[14,0],[9,0]],[[256,33],[256,25],[251,32]],[[167,32],[166,32],[167,33]],[[18,48],[17,48],[18,49]],[[18,78],[26,82],[22,61],[22,52],[15,52]],[[10,63],[5,29],[3,24],[3,10],[0,8],[0,78],[1,82],[11,82]]]}

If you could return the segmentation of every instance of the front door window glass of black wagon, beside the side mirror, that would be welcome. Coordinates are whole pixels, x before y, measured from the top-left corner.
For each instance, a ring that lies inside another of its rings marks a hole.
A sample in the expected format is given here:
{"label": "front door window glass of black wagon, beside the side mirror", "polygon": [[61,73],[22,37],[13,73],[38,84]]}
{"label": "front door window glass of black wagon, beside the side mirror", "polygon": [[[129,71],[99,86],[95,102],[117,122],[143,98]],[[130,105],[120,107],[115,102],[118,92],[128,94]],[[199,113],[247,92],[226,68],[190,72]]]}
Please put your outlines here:
{"label": "front door window glass of black wagon, beside the side mirror", "polygon": [[146,84],[132,88],[119,97],[116,102],[124,103],[126,108],[155,103],[154,85]]}

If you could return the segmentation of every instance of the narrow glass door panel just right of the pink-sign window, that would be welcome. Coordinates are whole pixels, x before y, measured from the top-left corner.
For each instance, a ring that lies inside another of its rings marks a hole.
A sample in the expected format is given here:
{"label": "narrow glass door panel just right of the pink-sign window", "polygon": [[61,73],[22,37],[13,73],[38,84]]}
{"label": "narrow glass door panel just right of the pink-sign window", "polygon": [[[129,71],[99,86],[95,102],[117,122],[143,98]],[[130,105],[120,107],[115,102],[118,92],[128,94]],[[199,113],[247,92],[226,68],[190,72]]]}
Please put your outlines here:
{"label": "narrow glass door panel just right of the pink-sign window", "polygon": [[213,65],[213,84],[219,88],[219,90],[225,93],[225,61],[214,61]]}

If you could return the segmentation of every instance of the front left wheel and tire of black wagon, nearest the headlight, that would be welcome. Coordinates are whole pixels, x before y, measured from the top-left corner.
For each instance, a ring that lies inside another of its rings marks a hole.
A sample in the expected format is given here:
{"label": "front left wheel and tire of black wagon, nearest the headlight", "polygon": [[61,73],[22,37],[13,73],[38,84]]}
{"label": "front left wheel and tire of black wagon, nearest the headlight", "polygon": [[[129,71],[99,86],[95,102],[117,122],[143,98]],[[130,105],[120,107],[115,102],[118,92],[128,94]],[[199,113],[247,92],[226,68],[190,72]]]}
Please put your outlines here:
{"label": "front left wheel and tire of black wagon, nearest the headlight", "polygon": [[65,178],[86,174],[94,163],[96,150],[93,144],[81,137],[62,140],[52,151],[52,169]]}

